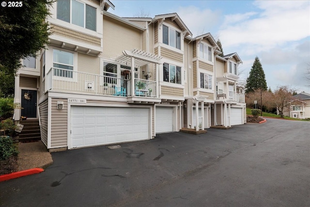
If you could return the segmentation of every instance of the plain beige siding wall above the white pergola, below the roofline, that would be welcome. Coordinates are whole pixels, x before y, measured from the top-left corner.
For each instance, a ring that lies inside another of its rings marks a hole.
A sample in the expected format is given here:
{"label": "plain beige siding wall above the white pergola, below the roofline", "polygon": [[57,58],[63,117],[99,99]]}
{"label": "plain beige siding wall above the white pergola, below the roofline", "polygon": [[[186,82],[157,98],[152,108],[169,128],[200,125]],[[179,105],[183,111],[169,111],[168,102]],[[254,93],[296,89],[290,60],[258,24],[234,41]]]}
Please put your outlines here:
{"label": "plain beige siding wall above the white pergola, below the roofline", "polygon": [[141,31],[109,16],[103,16],[102,58],[117,58],[123,50],[141,49]]}

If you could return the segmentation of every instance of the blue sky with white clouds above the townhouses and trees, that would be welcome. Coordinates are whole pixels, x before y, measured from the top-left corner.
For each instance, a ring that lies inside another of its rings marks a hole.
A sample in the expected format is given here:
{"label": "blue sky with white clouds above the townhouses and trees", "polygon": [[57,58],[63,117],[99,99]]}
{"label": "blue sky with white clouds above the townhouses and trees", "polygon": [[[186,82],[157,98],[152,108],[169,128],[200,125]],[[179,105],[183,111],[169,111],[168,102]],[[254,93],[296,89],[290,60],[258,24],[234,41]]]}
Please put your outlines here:
{"label": "blue sky with white clouds above the townhouses and trees", "polygon": [[111,0],[122,17],[141,11],[155,15],[177,13],[193,37],[210,32],[222,43],[224,54],[237,52],[246,80],[256,56],[275,90],[288,85],[310,93],[305,79],[310,67],[310,1],[308,0]]}

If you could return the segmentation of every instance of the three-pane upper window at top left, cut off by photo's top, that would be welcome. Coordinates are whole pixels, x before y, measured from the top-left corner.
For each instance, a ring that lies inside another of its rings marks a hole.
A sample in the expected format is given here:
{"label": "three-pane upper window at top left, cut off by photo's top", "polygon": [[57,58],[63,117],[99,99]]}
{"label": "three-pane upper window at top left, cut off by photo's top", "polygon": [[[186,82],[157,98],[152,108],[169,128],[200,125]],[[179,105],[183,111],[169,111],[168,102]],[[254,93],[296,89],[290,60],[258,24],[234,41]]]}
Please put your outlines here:
{"label": "three-pane upper window at top left, cut off by photo's top", "polygon": [[57,18],[96,31],[96,8],[78,0],[58,0]]}

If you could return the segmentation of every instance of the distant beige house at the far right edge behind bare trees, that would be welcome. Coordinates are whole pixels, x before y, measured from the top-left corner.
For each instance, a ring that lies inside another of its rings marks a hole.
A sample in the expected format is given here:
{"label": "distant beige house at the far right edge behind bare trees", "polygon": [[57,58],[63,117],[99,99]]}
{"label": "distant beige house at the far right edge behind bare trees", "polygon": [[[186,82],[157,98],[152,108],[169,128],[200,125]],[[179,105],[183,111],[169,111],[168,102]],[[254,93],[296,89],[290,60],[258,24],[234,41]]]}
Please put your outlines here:
{"label": "distant beige house at the far right edge behind bare trees", "polygon": [[289,101],[283,115],[298,119],[310,118],[310,94],[301,92],[294,95],[294,100]]}

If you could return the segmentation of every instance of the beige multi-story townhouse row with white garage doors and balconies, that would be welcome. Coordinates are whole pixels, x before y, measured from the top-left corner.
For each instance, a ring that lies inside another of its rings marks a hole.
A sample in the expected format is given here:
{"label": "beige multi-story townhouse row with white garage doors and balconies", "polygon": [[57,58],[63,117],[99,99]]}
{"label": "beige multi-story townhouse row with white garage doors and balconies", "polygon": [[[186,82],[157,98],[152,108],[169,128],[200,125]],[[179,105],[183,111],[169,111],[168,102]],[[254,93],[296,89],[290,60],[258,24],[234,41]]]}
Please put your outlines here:
{"label": "beige multi-story townhouse row with white garage doors and balconies", "polygon": [[123,18],[109,8],[55,2],[49,45],[17,73],[15,120],[39,119],[50,151],[245,123],[237,53],[218,56],[212,35],[193,38],[176,13]]}

